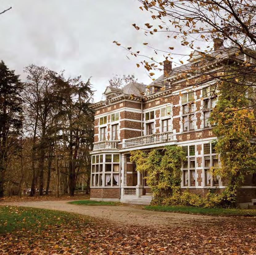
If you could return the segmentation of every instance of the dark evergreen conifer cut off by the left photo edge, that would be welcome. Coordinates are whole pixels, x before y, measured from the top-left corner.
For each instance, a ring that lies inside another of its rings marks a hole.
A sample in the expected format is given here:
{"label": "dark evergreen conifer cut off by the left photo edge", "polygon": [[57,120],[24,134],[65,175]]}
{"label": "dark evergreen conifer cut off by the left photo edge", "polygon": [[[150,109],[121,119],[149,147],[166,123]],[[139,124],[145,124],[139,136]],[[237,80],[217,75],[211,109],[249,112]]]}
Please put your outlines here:
{"label": "dark evergreen conifer cut off by the left photo edge", "polygon": [[18,137],[22,126],[23,84],[14,70],[0,63],[0,197],[3,197],[8,159],[19,147]]}

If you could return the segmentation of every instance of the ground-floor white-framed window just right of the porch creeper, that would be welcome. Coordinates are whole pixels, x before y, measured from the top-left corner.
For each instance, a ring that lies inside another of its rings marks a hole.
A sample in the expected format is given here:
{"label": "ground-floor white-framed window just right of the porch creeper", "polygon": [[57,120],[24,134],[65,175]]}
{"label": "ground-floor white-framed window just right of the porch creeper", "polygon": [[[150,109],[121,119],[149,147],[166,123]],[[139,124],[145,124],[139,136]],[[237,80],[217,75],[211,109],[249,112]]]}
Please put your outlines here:
{"label": "ground-floor white-framed window just right of the porch creeper", "polygon": [[196,185],[195,145],[182,146],[186,159],[182,162],[183,186]]}

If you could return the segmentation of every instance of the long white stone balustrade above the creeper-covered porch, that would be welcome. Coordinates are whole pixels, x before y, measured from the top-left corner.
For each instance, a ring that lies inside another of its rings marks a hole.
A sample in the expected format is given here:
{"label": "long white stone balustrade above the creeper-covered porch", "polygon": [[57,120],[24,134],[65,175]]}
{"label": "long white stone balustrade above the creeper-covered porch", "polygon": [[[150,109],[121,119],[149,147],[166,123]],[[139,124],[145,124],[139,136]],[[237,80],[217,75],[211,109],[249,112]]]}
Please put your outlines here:
{"label": "long white stone balustrade above the creeper-covered porch", "polygon": [[173,142],[172,132],[162,134],[151,134],[147,136],[140,136],[136,138],[130,138],[126,140],[126,148],[146,146],[158,143]]}

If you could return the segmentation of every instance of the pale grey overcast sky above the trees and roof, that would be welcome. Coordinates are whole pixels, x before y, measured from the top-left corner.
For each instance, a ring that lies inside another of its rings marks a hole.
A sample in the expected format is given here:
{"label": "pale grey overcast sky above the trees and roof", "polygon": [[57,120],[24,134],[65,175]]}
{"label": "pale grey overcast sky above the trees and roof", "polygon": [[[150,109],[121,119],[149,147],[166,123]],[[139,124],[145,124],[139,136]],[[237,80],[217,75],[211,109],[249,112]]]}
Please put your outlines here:
{"label": "pale grey overcast sky above the trees and roof", "polygon": [[143,42],[161,48],[178,45],[163,37],[146,37],[132,27],[151,23],[150,13],[142,12],[137,0],[1,0],[0,11],[10,6],[0,15],[0,59],[23,80],[23,68],[29,64],[56,72],[65,69],[85,81],[92,76],[95,102],[114,75],[134,74],[138,82],[152,81],[144,68],[136,67],[142,59],[128,60],[114,40],[145,54],[149,51]]}

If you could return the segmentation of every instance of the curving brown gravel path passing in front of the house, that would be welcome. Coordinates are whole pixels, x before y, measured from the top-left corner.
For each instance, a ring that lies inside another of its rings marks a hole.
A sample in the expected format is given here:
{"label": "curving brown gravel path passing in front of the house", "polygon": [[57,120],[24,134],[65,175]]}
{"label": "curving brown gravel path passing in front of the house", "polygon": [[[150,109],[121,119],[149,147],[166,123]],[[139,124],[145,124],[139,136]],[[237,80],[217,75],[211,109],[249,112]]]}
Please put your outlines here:
{"label": "curving brown gravel path passing in front of the house", "polygon": [[[72,200],[70,200],[72,201]],[[150,227],[170,227],[179,225],[183,227],[200,225],[221,225],[227,221],[237,221],[236,218],[213,217],[190,215],[180,213],[152,212],[143,210],[140,206],[135,205],[118,205],[118,206],[89,206],[68,204],[69,201],[27,201],[27,202],[5,202],[0,205],[25,206],[42,209],[52,209],[65,212],[79,213],[82,215],[93,216],[118,222],[119,224],[132,224]],[[246,220],[246,219],[243,219]]]}

